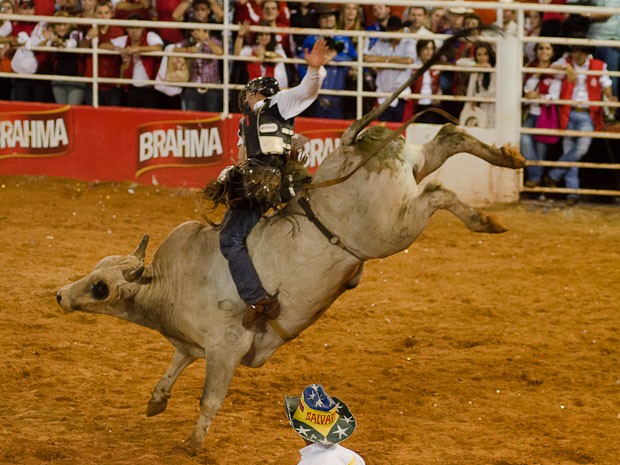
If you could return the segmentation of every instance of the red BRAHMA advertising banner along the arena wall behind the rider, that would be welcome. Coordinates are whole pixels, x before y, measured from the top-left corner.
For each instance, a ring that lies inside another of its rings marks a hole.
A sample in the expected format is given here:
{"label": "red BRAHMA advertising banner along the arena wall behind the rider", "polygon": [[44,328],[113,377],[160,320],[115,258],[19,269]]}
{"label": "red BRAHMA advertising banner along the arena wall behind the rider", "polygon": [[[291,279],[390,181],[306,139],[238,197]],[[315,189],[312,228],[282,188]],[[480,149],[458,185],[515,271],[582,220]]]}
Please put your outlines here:
{"label": "red BRAHMA advertising banner along the arena wall behind the rider", "polygon": [[[0,174],[203,187],[237,160],[240,115],[0,102]],[[349,121],[297,118],[314,172]]]}

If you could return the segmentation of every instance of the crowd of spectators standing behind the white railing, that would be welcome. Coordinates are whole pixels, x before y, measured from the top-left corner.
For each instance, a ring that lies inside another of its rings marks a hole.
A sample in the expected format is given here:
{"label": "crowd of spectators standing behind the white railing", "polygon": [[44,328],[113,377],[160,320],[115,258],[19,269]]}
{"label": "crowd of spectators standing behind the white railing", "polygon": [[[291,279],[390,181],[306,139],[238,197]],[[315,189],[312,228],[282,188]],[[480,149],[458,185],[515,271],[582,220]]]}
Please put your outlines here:
{"label": "crowd of spectators standing behind the white railing", "polygon": [[[563,4],[566,0],[543,0]],[[620,0],[588,0],[595,6],[620,7]],[[432,5],[432,2],[431,2]],[[492,10],[474,11],[468,8],[397,7],[386,3],[360,6],[345,4],[313,4],[312,2],[276,0],[231,0],[232,11],[224,11],[221,0],[0,0],[0,13],[26,16],[81,17],[98,19],[161,20],[196,24],[217,24],[228,15],[239,26],[230,40],[230,54],[239,57],[232,61],[231,82],[245,84],[258,76],[278,79],[286,88],[296,85],[305,74],[303,66],[285,63],[284,58],[303,58],[320,36],[287,34],[280,31],[257,31],[263,28],[295,27],[337,29],[341,34],[328,40],[338,54],[327,66],[323,88],[332,91],[357,90],[362,79],[363,89],[390,93],[405,82],[416,66],[430,59],[442,41],[425,38],[428,34],[453,34],[470,29],[476,40],[462,40],[443,57],[443,63],[475,67],[475,72],[427,71],[401,94],[384,112],[385,121],[404,121],[414,114],[420,122],[443,123],[445,117],[424,110],[442,109],[462,124],[493,127],[495,104],[492,102],[441,100],[442,95],[474,98],[495,98],[495,73],[481,68],[494,68],[495,49],[485,42],[485,25],[495,22]],[[489,15],[492,15],[490,17]],[[510,9],[502,13],[504,34],[517,34],[516,15]],[[57,76],[93,76],[93,57],[89,53],[68,53],[73,48],[91,48],[98,40],[98,76],[126,78],[130,83],[99,83],[100,106],[131,106],[197,111],[222,110],[221,84],[224,54],[222,33],[217,30],[192,28],[161,28],[148,30],[138,23],[135,27],[114,25],[72,25],[47,21],[0,20],[1,70],[26,74]],[[416,38],[349,36],[347,31],[415,33]],[[620,40],[620,15],[583,14],[530,11],[525,22],[526,36],[592,38]],[[362,47],[359,42],[363,41]],[[491,41],[492,42],[492,41]],[[56,47],[57,52],[30,51],[31,47]],[[152,51],[175,51],[197,56],[164,57],[148,55]],[[363,51],[362,75],[353,63]],[[105,53],[109,51],[109,53]],[[344,63],[340,65],[339,63]],[[349,64],[350,63],[350,64]],[[373,67],[373,64],[381,66]],[[523,63],[528,67],[546,68],[546,73],[524,76],[524,95],[530,99],[572,99],[575,106],[532,103],[524,108],[524,127],[554,127],[549,118],[556,118],[561,128],[599,130],[603,127],[603,109],[588,102],[602,98],[617,100],[618,78],[610,78],[607,70],[620,69],[620,48],[612,46],[584,47],[556,45],[548,42],[526,43]],[[386,66],[388,64],[388,66]],[[391,68],[389,64],[396,65]],[[578,70],[602,71],[601,76],[587,76]],[[152,86],[140,81],[167,81]],[[178,87],[174,82],[205,84],[199,87]],[[231,93],[230,109],[238,111],[235,93]],[[421,95],[410,98],[410,94]],[[384,97],[365,98],[364,111],[381,102]],[[92,104],[92,85],[76,81],[48,81],[18,78],[0,79],[0,99],[17,101],[56,102],[63,104]],[[322,118],[354,118],[356,105],[352,97],[321,95],[304,115]],[[609,113],[609,112],[608,112]],[[613,116],[613,112],[612,116]],[[543,121],[544,120],[544,121]],[[544,124],[543,124],[544,123]],[[557,126],[556,126],[557,127]],[[565,137],[561,143],[560,160],[577,161],[591,143],[588,137]],[[524,134],[521,148],[530,160],[544,160],[550,146],[559,144],[557,138]],[[579,187],[576,168],[555,168],[546,174],[541,167],[528,167],[525,185]],[[569,200],[573,197],[569,197]]]}

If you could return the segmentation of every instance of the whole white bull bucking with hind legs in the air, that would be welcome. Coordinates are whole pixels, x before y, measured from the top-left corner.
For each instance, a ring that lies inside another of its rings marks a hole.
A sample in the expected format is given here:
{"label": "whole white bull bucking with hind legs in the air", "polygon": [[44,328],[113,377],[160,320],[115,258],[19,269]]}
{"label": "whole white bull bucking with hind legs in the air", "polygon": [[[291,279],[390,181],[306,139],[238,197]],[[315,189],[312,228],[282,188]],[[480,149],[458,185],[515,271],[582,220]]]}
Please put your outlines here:
{"label": "whole white bull bucking with hind legs in the air", "polygon": [[[261,281],[281,304],[275,322],[252,330],[242,326],[246,305],[220,253],[218,230],[196,221],[174,229],[150,265],[144,264],[145,236],[133,255],[106,257],[88,276],[58,291],[58,303],[67,312],[132,321],[159,331],[176,348],[153,390],[148,416],[166,408],[172,386],[187,366],[206,359],[200,416],[182,445],[188,452],[201,447],[239,364],[264,364],[359,282],[364,261],[409,247],[435,211],[449,210],[472,231],[504,231],[440,185],[429,183],[420,190],[419,183],[456,153],[468,152],[506,168],[523,167],[523,157],[509,147],[488,146],[451,124],[421,146],[409,145],[383,127],[364,130],[389,102],[345,131],[310,189],[289,203],[284,217],[262,220],[248,237]],[[302,197],[319,226],[301,208]]]}

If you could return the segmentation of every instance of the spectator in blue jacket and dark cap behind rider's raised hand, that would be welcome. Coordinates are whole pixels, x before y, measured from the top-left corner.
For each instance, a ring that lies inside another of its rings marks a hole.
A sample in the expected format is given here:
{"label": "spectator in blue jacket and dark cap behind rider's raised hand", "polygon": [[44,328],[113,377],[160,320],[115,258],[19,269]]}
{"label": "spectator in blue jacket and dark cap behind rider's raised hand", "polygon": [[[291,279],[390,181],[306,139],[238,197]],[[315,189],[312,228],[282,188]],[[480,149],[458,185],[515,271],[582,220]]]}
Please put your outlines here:
{"label": "spectator in blue jacket and dark cap behind rider's raised hand", "polygon": [[[335,29],[336,14],[338,9],[331,7],[325,3],[320,4],[316,9],[320,29]],[[304,50],[312,50],[314,44],[320,39],[319,36],[309,36],[303,44]],[[351,39],[346,36],[334,36],[332,40],[328,40],[330,49],[337,51],[337,55],[332,61],[354,61],[357,60],[357,52]],[[346,86],[347,75],[353,73],[352,68],[344,66],[326,66],[327,75],[323,81],[321,89],[343,90]],[[306,67],[299,67],[299,75],[303,78],[306,74]],[[319,95],[316,104],[313,107],[314,116],[317,118],[335,118],[342,119],[344,117],[344,102],[340,95]]]}

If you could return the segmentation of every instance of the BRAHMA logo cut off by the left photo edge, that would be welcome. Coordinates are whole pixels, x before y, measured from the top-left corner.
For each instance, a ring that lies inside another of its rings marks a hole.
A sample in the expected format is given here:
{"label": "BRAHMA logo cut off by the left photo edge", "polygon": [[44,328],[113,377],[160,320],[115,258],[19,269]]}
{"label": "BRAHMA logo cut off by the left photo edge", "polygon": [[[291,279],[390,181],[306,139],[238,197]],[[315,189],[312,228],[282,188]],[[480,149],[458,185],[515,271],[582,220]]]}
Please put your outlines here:
{"label": "BRAHMA logo cut off by the left photo edge", "polygon": [[71,150],[71,107],[0,114],[0,158],[53,157]]}

